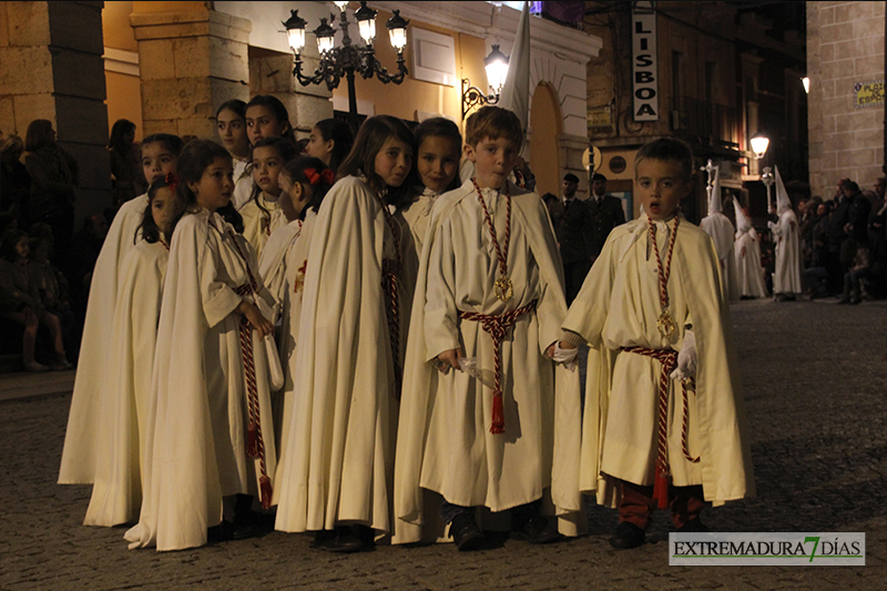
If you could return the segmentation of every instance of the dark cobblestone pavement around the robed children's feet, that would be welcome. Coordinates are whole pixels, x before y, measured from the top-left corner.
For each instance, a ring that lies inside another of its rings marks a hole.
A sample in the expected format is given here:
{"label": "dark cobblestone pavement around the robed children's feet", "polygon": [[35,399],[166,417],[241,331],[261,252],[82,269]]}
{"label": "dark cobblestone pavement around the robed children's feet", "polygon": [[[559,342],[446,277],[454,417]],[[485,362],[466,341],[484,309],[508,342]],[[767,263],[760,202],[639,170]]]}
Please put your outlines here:
{"label": "dark cobblestone pavement around the robed children's feet", "polygon": [[[669,519],[649,543],[608,543],[590,507],[569,542],[469,554],[451,544],[334,556],[307,536],[181,552],[131,551],[125,528],[81,526],[90,488],[58,486],[70,394],[0,403],[2,589],[884,589],[887,575],[885,303],[743,302],[732,307],[758,497],[706,510],[714,531],[865,531],[866,567],[669,567]],[[12,377],[0,376],[0,385]],[[2,398],[2,397],[0,397]]]}

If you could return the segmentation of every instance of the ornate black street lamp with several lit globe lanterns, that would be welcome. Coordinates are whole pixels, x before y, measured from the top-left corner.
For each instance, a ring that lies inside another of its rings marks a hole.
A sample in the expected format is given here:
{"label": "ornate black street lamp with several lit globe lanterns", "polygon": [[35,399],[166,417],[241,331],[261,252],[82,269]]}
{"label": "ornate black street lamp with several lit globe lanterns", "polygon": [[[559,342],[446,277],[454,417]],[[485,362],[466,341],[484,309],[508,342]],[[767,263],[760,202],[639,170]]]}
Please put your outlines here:
{"label": "ornate black street lamp with several lit globe lanterns", "polygon": [[376,11],[367,7],[366,2],[360,2],[360,8],[355,11],[355,20],[360,38],[366,43],[363,47],[354,45],[351,37],[348,34],[348,20],[346,11],[348,2],[335,2],[339,9],[339,29],[341,30],[341,47],[336,47],[336,30],[329,24],[336,20],[334,14],[320,19],[320,26],[315,29],[314,35],[317,38],[317,49],[320,52],[320,63],[314,74],[306,77],[302,73],[302,50],[305,48],[305,28],[307,21],[298,16],[298,10],[292,10],[289,19],[284,22],[289,47],[296,58],[293,75],[303,86],[309,84],[326,83],[330,91],[338,88],[341,78],[348,82],[348,123],[351,131],[356,134],[357,128],[357,94],[354,88],[355,72],[365,79],[373,78],[375,74],[384,84],[392,82],[400,84],[407,74],[404,50],[407,47],[407,26],[408,20],[400,17],[400,11],[395,10],[394,16],[388,19],[385,27],[388,29],[388,37],[391,47],[397,51],[397,72],[389,74],[388,70],[379,63],[373,42],[376,39]]}

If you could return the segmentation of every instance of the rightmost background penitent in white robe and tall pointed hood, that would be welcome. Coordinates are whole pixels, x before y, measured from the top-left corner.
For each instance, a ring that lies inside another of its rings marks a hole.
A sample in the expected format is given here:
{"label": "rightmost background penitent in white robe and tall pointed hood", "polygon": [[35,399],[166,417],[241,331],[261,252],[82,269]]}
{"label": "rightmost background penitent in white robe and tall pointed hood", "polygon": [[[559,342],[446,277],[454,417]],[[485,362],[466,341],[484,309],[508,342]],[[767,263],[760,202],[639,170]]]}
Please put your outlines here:
{"label": "rightmost background penitent in white robe and tall pointed hood", "polygon": [[767,222],[776,241],[776,264],[773,269],[773,297],[776,302],[796,299],[804,291],[801,285],[801,233],[792,201],[785,191],[779,169],[776,171],[777,222]]}

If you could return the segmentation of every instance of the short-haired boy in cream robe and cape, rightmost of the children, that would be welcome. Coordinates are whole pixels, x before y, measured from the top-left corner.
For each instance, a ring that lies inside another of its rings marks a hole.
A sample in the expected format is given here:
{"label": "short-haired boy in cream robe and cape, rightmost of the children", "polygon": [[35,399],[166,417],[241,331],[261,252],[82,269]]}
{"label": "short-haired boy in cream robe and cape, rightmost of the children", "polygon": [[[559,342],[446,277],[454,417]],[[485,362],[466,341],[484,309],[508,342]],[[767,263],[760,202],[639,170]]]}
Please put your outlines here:
{"label": "short-haired boy in cream robe and cape, rightmost of the children", "polygon": [[717,255],[677,210],[693,186],[692,153],[657,140],[635,171],[645,213],[608,237],[561,343],[592,347],[581,486],[619,507],[615,548],[644,542],[656,503],[671,506],[679,531],[707,531],[704,501],[754,495]]}

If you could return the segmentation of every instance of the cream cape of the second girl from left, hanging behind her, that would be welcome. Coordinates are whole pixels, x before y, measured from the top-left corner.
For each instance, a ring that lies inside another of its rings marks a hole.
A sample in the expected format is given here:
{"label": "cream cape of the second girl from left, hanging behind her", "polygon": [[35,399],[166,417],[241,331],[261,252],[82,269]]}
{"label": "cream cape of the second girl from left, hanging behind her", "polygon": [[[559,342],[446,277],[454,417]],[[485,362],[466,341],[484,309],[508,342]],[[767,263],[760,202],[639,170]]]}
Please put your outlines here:
{"label": "cream cape of the second girl from left, hanging behind her", "polygon": [[142,502],[151,370],[170,253],[162,242],[140,241],[121,265],[122,276],[102,379],[95,483],[86,526],[132,521]]}

